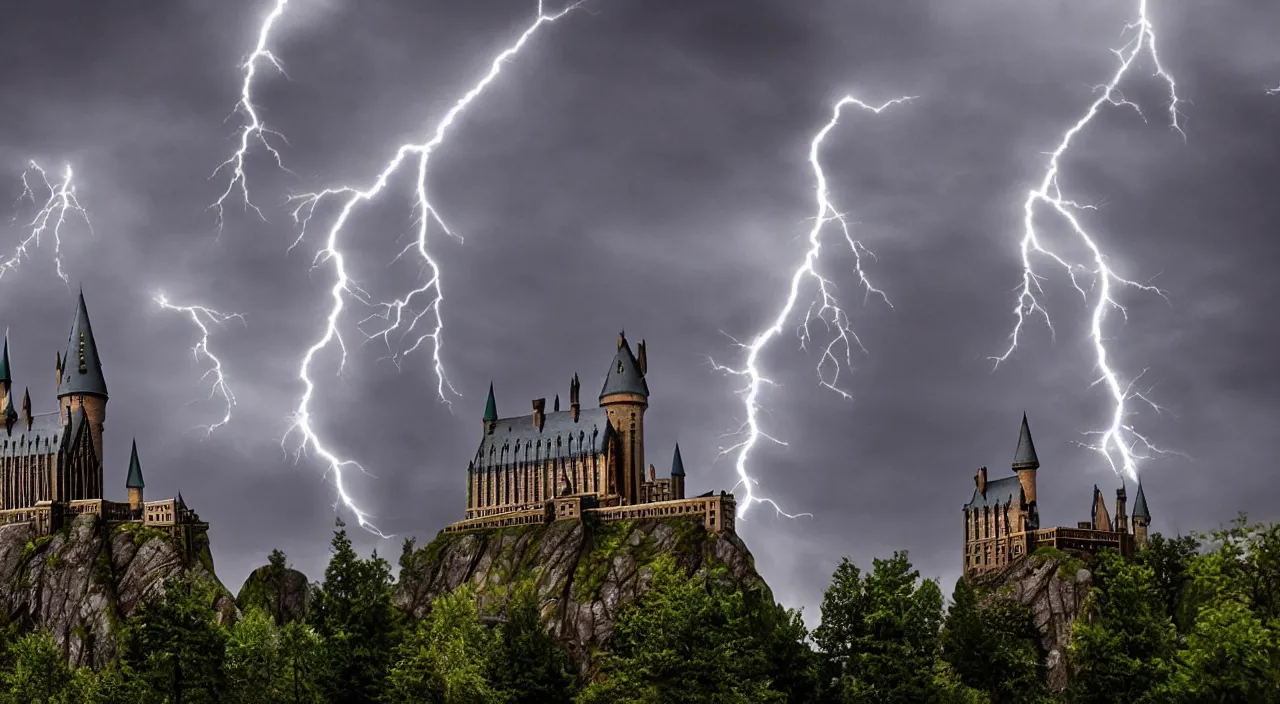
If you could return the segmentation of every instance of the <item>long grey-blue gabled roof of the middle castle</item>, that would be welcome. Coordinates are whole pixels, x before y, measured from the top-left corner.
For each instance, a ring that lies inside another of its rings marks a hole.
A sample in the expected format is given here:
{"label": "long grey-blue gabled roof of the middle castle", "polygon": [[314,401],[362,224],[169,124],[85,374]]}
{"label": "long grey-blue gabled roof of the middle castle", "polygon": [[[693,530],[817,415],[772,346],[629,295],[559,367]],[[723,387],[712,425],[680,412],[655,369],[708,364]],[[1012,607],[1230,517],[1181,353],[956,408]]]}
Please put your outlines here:
{"label": "long grey-blue gabled roof of the middle castle", "polygon": [[572,411],[547,413],[541,428],[531,415],[499,419],[494,431],[480,440],[472,470],[598,454],[604,452],[612,431],[604,408],[582,408],[576,421]]}

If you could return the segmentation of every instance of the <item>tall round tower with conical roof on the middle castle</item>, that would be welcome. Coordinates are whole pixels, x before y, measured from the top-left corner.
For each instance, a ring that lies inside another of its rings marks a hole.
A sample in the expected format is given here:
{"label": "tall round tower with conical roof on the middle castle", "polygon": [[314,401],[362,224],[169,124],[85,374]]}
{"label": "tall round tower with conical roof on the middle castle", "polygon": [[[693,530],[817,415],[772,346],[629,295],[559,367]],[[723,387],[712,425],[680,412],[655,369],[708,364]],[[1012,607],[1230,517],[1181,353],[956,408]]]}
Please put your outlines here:
{"label": "tall round tower with conical roof on the middle castle", "polygon": [[600,407],[618,433],[622,457],[616,477],[617,493],[623,504],[639,503],[644,472],[644,412],[649,407],[649,385],[640,361],[631,353],[626,333],[618,333],[618,352],[600,389]]}

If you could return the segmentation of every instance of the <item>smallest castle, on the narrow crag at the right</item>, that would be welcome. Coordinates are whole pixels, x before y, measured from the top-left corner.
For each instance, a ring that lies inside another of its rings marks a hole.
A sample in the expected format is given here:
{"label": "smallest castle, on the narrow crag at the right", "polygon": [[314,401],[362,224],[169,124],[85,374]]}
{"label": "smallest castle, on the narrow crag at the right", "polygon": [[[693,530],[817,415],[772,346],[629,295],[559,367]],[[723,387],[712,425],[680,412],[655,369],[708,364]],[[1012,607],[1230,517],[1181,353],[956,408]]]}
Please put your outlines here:
{"label": "smallest castle, on the narrow crag at the right", "polygon": [[1089,521],[1070,527],[1039,527],[1036,506],[1036,472],[1039,458],[1023,413],[1023,428],[1014,451],[1014,476],[988,480],[987,467],[974,476],[977,488],[973,498],[964,504],[964,576],[973,577],[998,571],[1037,548],[1050,547],[1068,553],[1094,554],[1112,548],[1129,557],[1134,549],[1147,543],[1151,512],[1147,497],[1138,483],[1138,495],[1133,502],[1133,530],[1125,515],[1124,485],[1116,489],[1116,509],[1112,517],[1107,502],[1097,484],[1093,485],[1093,504]]}

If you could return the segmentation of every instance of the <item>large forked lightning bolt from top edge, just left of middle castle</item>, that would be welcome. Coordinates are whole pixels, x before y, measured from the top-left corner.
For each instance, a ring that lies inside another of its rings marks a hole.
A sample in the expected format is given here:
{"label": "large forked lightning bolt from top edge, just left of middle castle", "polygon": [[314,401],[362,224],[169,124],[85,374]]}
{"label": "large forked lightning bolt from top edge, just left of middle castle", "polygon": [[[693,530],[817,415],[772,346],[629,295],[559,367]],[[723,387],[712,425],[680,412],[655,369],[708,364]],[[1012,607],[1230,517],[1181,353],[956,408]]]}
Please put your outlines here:
{"label": "large forked lightning bolt from top edge, just left of middle castle", "polygon": [[[540,28],[556,22],[557,19],[564,17],[566,14],[568,14],[570,12],[575,10],[579,6],[580,3],[570,5],[558,13],[547,13],[543,8],[543,4],[539,1],[538,17],[534,19],[534,22],[529,24],[527,28],[525,28],[525,31],[516,38],[513,44],[511,44],[509,46],[503,49],[497,56],[494,56],[492,64],[489,65],[489,72],[485,73],[479,82],[472,84],[472,87],[466,93],[463,93],[462,97],[458,99],[458,101],[454,102],[452,108],[449,108],[449,110],[436,124],[434,132],[431,132],[428,141],[421,143],[402,145],[396,151],[396,155],[385,164],[383,170],[372,179],[372,182],[369,186],[364,188],[357,188],[353,186],[340,186],[335,188],[326,188],[324,191],[315,193],[302,193],[292,198],[293,201],[296,201],[293,218],[300,224],[298,238],[294,241],[293,246],[297,246],[298,242],[301,242],[306,237],[307,224],[310,223],[311,216],[315,214],[316,206],[321,201],[330,197],[338,197],[342,202],[342,209],[338,216],[334,219],[333,225],[329,228],[328,236],[324,239],[324,246],[316,252],[316,256],[312,260],[312,270],[315,268],[319,268],[324,262],[333,262],[334,283],[333,287],[329,289],[332,305],[329,308],[329,315],[325,317],[324,332],[315,340],[315,343],[310,348],[307,348],[307,352],[302,357],[302,362],[298,366],[298,379],[302,380],[305,390],[298,399],[297,410],[293,413],[293,425],[289,429],[289,433],[285,434],[285,440],[293,434],[293,431],[297,431],[301,435],[301,444],[298,445],[297,454],[301,457],[301,453],[307,448],[310,448],[316,456],[319,456],[320,460],[325,462],[328,466],[326,474],[333,474],[334,476],[334,485],[338,489],[339,502],[343,506],[346,506],[347,509],[355,513],[356,520],[360,522],[361,527],[379,536],[387,538],[372,524],[369,522],[369,515],[366,515],[355,504],[352,498],[347,494],[346,488],[343,486],[342,472],[344,468],[356,468],[360,471],[365,471],[365,468],[355,461],[343,460],[338,457],[333,451],[330,451],[325,445],[325,443],[316,434],[316,430],[311,424],[312,420],[311,399],[316,388],[315,380],[311,378],[312,376],[311,365],[315,361],[316,355],[319,355],[321,351],[326,349],[330,344],[334,343],[342,352],[342,362],[339,365],[339,372],[342,366],[346,365],[347,346],[342,339],[342,334],[338,332],[338,320],[342,317],[343,310],[346,308],[347,305],[347,297],[349,296],[356,301],[369,305],[375,311],[378,311],[366,317],[365,320],[360,321],[357,326],[361,326],[374,319],[383,320],[385,323],[385,326],[383,326],[380,330],[375,333],[365,333],[365,334],[369,339],[380,338],[383,342],[387,343],[388,348],[392,348],[390,338],[393,334],[398,334],[397,339],[401,340],[403,346],[404,344],[403,340],[406,340],[408,335],[415,334],[419,321],[421,321],[422,317],[430,315],[431,319],[428,323],[430,325],[430,330],[420,333],[416,340],[408,344],[407,349],[403,349],[402,352],[398,353],[393,352],[393,360],[396,360],[398,364],[399,358],[413,352],[415,349],[429,342],[431,346],[431,365],[436,378],[436,394],[445,403],[449,402],[448,397],[445,396],[445,389],[448,389],[449,393],[452,393],[453,396],[461,396],[449,384],[448,378],[444,372],[444,364],[442,362],[440,358],[442,334],[444,330],[444,320],[440,315],[443,289],[440,288],[440,268],[438,262],[431,257],[426,246],[429,234],[428,225],[430,224],[430,221],[434,220],[445,234],[453,237],[458,236],[454,234],[448,228],[448,225],[444,224],[444,220],[442,219],[439,210],[429,197],[426,179],[430,173],[429,172],[430,159],[431,155],[435,152],[435,148],[444,142],[444,138],[448,134],[449,128],[454,124],[454,122],[462,114],[462,111],[466,110],[467,106],[470,106],[472,102],[475,102],[475,100],[480,97],[480,95],[485,91],[485,88],[493,84],[493,82],[498,78],[498,74],[502,72],[503,64],[506,64],[509,59],[512,59],[516,54],[518,54],[520,50],[529,44],[529,41],[538,33]],[[422,269],[430,271],[430,275],[426,278],[426,282],[422,285],[410,291],[401,298],[396,298],[389,302],[372,303],[365,294],[365,292],[361,291],[360,287],[355,284],[355,282],[352,282],[351,275],[347,273],[346,257],[339,244],[343,234],[343,227],[347,224],[347,219],[351,216],[351,212],[355,210],[355,207],[361,202],[374,200],[379,193],[381,193],[383,189],[387,188],[387,183],[392,178],[392,175],[396,174],[399,170],[399,168],[411,157],[416,157],[417,160],[417,179],[415,186],[415,210],[419,214],[417,237],[403,251],[401,251],[401,253],[397,255],[396,259],[398,260],[401,256],[413,252],[421,260]],[[293,246],[291,246],[291,250]],[[426,302],[419,310],[415,308],[413,306],[420,300],[425,300]]]}

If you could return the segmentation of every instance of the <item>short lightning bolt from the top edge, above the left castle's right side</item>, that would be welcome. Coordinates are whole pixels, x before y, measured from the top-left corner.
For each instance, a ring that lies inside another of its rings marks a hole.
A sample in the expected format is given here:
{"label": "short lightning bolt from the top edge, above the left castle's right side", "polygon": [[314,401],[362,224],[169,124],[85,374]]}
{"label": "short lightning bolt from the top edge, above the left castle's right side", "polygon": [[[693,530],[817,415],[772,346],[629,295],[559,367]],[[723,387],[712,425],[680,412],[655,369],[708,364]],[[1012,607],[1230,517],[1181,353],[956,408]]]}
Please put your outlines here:
{"label": "short lightning bolt from the top edge, above the left castle's right side", "polygon": [[[230,173],[230,177],[227,179],[227,188],[220,196],[218,196],[218,200],[209,206],[210,210],[218,214],[219,234],[223,232],[224,206],[227,205],[228,198],[232,197],[232,193],[237,189],[239,191],[241,198],[244,201],[246,210],[252,209],[253,212],[257,212],[259,218],[262,218],[264,221],[266,220],[262,211],[253,205],[253,201],[248,197],[248,177],[244,174],[244,157],[248,156],[250,148],[253,145],[262,145],[262,147],[266,148],[266,151],[275,159],[275,165],[288,172],[288,169],[284,168],[284,160],[280,157],[280,152],[274,145],[271,145],[268,137],[278,137],[285,143],[288,143],[288,141],[279,132],[266,127],[262,118],[259,115],[257,106],[253,105],[253,79],[257,78],[259,67],[266,64],[280,72],[280,74],[284,74],[284,67],[280,64],[280,60],[275,58],[275,54],[271,54],[271,51],[266,47],[266,42],[271,36],[271,27],[274,27],[275,22],[284,14],[284,8],[288,4],[289,0],[275,0],[275,6],[259,27],[257,44],[253,46],[253,51],[250,52],[248,58],[244,59],[244,63],[241,64],[241,69],[244,72],[244,79],[241,83],[241,99],[230,113],[230,115],[239,113],[244,118],[244,123],[241,124],[237,134],[238,146],[227,161],[219,164],[218,168],[214,169],[214,173],[209,174],[209,178],[212,179],[223,172]],[[230,115],[228,115],[227,119],[230,119]]]}

